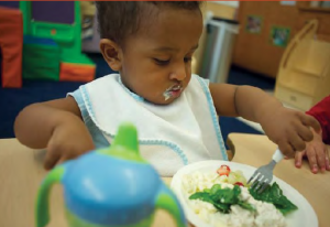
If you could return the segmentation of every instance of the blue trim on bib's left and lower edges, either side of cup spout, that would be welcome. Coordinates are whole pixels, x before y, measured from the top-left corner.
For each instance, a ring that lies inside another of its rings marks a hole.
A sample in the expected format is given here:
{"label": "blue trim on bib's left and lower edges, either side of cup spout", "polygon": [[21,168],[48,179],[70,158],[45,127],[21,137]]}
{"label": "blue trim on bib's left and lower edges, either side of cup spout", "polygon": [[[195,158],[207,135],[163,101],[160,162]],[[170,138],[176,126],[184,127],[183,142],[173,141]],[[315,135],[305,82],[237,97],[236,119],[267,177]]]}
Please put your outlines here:
{"label": "blue trim on bib's left and lower edges, either side of cup spout", "polygon": [[[88,96],[88,93],[86,90],[86,87],[85,86],[81,86],[80,87],[81,89],[81,94],[82,94],[82,97],[86,98],[86,101],[85,101],[85,105],[86,105],[86,108],[87,110],[89,110],[89,114],[90,114],[90,118],[91,120],[95,122],[96,127],[100,130],[100,132],[103,132],[105,134],[107,134],[108,137],[110,137],[111,139],[114,138],[114,134],[111,134],[105,130],[102,130],[99,125],[97,123],[96,121],[96,117],[95,117],[95,112],[91,108],[91,105],[90,105],[90,100],[89,100],[89,96]],[[186,156],[186,154],[184,153],[184,151],[175,143],[172,143],[172,142],[168,142],[166,140],[139,140],[139,143],[140,144],[144,144],[144,145],[165,145],[167,148],[169,148],[170,150],[173,150],[183,161],[183,163],[185,165],[188,164],[188,159]]]}

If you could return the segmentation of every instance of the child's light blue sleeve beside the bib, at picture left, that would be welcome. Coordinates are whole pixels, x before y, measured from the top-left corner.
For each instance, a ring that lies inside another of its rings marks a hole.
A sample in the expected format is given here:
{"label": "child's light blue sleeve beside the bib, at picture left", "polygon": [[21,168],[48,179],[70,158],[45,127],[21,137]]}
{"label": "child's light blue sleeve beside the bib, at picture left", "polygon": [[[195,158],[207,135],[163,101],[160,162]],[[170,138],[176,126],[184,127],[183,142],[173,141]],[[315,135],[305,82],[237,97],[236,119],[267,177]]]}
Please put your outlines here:
{"label": "child's light blue sleeve beside the bib, at picture left", "polygon": [[85,126],[87,127],[89,133],[91,134],[96,148],[99,149],[99,148],[109,147],[110,145],[109,141],[105,138],[103,133],[99,130],[99,128],[95,125],[95,122],[90,118],[85,101],[82,99],[81,91],[77,89],[74,93],[69,93],[67,95],[72,96],[76,100],[80,109]]}

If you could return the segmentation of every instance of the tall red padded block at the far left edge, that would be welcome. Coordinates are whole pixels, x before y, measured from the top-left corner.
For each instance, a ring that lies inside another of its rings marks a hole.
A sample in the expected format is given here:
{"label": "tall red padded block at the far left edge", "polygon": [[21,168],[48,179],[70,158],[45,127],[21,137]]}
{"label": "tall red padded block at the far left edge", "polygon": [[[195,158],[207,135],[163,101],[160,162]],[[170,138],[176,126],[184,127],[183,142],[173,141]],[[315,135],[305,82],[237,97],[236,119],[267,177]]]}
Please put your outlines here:
{"label": "tall red padded block at the far left edge", "polygon": [[2,87],[22,87],[23,21],[20,10],[0,7]]}

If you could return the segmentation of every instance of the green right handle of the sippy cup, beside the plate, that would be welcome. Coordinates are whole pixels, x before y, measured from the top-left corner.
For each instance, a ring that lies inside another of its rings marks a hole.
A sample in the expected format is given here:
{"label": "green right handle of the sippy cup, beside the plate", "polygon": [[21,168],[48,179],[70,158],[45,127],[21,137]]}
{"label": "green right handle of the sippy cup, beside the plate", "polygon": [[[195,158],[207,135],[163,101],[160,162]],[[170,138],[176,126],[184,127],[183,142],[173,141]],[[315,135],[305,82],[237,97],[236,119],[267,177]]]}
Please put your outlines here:
{"label": "green right handle of the sippy cup, beside the plate", "polygon": [[167,210],[176,221],[177,227],[187,226],[187,220],[182,205],[175,194],[164,183],[160,190],[155,206],[156,208]]}

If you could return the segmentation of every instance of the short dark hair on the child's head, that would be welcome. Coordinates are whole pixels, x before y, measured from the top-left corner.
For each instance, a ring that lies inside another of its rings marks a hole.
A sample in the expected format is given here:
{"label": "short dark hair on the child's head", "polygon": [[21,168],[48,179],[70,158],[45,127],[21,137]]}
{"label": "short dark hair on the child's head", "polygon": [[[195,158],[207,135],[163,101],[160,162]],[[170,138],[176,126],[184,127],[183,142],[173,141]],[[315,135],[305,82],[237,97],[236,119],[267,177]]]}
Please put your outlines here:
{"label": "short dark hair on the child's head", "polygon": [[151,17],[147,14],[148,6],[200,10],[200,3],[198,1],[96,1],[100,36],[122,46],[125,37],[139,31],[142,19]]}

